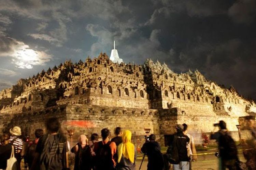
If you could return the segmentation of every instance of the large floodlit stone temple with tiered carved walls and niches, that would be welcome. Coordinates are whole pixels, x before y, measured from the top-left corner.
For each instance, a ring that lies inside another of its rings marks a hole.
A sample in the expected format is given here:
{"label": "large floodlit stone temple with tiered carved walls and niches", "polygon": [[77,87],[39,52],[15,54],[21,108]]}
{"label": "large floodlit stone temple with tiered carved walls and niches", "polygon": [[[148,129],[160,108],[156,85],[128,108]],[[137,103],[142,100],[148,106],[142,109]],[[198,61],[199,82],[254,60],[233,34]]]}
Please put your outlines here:
{"label": "large floodlit stone temple with tiered carved walls and niches", "polygon": [[193,133],[207,133],[224,120],[229,131],[237,131],[241,117],[255,116],[255,102],[205,79],[198,70],[177,74],[152,60],[125,64],[116,49],[112,52],[110,58],[100,53],[84,62],[66,61],[0,91],[0,134],[19,125],[24,135],[33,136],[46,118],[58,117],[63,132],[74,129],[74,136],[100,134],[102,128],[113,136],[120,126],[133,136],[150,128],[163,140],[177,123],[187,123]]}

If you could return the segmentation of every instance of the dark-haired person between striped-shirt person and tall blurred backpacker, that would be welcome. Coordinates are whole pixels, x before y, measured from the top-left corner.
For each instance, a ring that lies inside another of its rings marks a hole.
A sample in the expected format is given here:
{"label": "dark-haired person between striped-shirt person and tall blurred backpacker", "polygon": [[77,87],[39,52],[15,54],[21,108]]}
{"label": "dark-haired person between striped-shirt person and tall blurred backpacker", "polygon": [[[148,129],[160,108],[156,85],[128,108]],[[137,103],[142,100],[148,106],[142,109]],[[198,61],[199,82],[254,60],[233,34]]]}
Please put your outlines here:
{"label": "dark-haired person between striped-shirt person and tall blurred backpacker", "polygon": [[[32,166],[32,162],[34,159],[34,154],[35,154],[35,148],[37,147],[38,141],[40,139],[40,137],[42,137],[44,134],[44,131],[42,129],[36,129],[35,130],[35,140],[29,142],[28,144],[28,149],[26,151],[25,157],[24,159],[26,160],[27,164],[28,164],[28,168],[30,169]],[[39,169],[39,163],[37,164]]]}

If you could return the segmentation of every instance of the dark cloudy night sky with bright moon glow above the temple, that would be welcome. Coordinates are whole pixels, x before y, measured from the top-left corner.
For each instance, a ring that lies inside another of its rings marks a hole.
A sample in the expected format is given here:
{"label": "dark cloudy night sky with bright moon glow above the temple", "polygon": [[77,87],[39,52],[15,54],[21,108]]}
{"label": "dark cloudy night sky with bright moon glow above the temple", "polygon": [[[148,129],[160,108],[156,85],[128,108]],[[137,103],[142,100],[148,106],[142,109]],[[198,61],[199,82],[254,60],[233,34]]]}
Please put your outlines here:
{"label": "dark cloudy night sky with bright moon glow above the temple", "polygon": [[0,0],[0,90],[113,40],[125,63],[146,58],[256,99],[255,0]]}

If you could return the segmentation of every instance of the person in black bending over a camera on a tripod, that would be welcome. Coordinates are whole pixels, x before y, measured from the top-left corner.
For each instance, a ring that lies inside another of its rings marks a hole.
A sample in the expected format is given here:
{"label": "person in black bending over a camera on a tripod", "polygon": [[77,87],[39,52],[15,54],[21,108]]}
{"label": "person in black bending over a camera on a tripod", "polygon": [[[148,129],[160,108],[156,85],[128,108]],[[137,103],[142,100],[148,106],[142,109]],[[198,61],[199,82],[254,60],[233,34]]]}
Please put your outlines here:
{"label": "person in black bending over a camera on a tripod", "polygon": [[159,143],[155,140],[156,136],[151,134],[141,148],[141,152],[148,158],[147,170],[163,169],[163,155]]}

